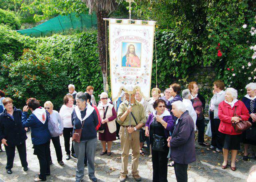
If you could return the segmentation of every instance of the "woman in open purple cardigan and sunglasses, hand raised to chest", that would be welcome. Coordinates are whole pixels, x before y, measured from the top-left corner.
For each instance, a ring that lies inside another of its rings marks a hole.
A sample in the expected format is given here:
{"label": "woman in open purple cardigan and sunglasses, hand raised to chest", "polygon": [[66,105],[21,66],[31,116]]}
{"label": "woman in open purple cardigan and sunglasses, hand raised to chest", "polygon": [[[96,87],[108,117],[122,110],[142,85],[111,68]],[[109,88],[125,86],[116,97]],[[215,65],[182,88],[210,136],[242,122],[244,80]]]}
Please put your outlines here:
{"label": "woman in open purple cardigan and sunglasses, hand raised to chest", "polygon": [[165,110],[166,102],[164,100],[156,100],[153,108],[155,111],[148,116],[145,134],[149,136],[151,146],[153,146],[155,136],[163,137],[166,142],[166,146],[163,148],[164,152],[152,148],[153,182],[167,182],[167,155],[169,150],[166,139],[169,137],[169,132],[174,128],[174,120],[170,112]]}

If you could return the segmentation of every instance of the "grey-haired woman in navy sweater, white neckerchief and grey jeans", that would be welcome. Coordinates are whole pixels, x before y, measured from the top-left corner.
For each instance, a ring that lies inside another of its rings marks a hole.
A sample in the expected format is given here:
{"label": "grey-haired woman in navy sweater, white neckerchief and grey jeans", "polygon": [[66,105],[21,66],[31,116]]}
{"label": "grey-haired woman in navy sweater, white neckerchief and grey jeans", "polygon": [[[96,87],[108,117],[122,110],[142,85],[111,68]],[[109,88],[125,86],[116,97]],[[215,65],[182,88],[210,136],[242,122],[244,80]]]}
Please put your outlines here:
{"label": "grey-haired woman in navy sweater, white neckerchief and grey jeans", "polygon": [[97,181],[95,177],[94,158],[97,146],[98,116],[96,110],[87,104],[86,94],[78,92],[76,94],[76,106],[72,112],[73,134],[76,129],[82,129],[80,142],[74,142],[74,150],[77,157],[76,182],[84,178],[84,156],[86,152],[88,160],[88,176],[93,182]]}

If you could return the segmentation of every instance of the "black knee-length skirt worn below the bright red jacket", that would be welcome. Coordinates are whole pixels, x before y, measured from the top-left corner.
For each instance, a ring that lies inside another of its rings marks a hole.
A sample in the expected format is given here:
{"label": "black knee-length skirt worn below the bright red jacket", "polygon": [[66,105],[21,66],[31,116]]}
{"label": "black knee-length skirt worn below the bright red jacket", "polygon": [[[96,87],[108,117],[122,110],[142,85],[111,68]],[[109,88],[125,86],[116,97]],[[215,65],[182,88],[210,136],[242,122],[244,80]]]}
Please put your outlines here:
{"label": "black knee-length skirt worn below the bright red jacket", "polygon": [[227,150],[240,150],[241,134],[222,134],[223,148]]}

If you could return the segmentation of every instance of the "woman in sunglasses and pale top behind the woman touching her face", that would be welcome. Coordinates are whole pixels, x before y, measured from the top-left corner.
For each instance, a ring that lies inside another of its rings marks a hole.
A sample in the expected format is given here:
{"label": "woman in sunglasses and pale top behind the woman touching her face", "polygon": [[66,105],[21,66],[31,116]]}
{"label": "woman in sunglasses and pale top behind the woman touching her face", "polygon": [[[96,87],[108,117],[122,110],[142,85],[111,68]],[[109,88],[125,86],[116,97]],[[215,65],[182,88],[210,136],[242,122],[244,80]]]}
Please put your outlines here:
{"label": "woman in sunglasses and pale top behind the woman touching her face", "polygon": [[[63,121],[62,117],[58,113],[58,111],[53,110],[53,104],[51,101],[46,101],[44,103],[44,109],[47,110],[50,113],[50,117],[56,124],[56,126],[63,131]],[[56,156],[57,156],[57,161],[60,164],[60,166],[64,165],[64,162],[62,161],[62,151],[61,151],[61,146],[60,146],[60,136],[52,137],[52,143],[55,148]],[[50,149],[50,148],[49,148]],[[51,152],[50,152],[50,164],[52,164],[52,157],[51,157]]]}

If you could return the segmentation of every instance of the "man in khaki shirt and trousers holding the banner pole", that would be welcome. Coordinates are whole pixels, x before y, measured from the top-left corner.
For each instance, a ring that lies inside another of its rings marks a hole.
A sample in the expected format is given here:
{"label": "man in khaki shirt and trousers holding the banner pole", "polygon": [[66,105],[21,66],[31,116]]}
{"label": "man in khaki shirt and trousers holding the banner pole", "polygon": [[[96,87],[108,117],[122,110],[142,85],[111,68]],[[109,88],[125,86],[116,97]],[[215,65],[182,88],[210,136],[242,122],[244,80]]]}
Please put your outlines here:
{"label": "man in khaki shirt and trousers holding the banner pole", "polygon": [[117,122],[121,125],[122,170],[120,182],[124,182],[128,174],[127,165],[130,148],[132,149],[132,176],[136,181],[140,181],[141,177],[138,171],[140,157],[139,129],[146,123],[145,110],[142,104],[135,100],[135,90],[130,95],[125,91],[125,97],[126,101],[120,104],[117,113]]}

